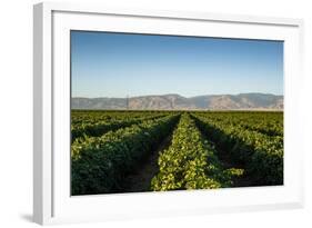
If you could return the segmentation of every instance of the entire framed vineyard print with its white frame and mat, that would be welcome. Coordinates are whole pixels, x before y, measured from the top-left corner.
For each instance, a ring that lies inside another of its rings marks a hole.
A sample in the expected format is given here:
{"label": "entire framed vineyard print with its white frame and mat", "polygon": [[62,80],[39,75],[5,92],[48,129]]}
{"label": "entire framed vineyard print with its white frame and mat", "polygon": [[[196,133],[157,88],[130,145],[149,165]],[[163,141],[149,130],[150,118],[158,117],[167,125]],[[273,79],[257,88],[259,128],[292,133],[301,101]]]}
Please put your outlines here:
{"label": "entire framed vineyard print with its white frame and mat", "polygon": [[36,4],[34,221],[302,207],[302,27]]}

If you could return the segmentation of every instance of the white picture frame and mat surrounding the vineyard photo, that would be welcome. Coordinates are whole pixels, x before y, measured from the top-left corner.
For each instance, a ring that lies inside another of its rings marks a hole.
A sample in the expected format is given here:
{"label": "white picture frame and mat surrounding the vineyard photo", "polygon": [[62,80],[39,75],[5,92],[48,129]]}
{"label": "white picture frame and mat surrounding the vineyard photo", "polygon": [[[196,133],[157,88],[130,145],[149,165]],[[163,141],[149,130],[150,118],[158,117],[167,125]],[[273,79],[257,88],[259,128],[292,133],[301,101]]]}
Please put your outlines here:
{"label": "white picture frame and mat surrounding the vineyard photo", "polygon": [[[219,190],[70,196],[69,31],[122,31],[284,41],[284,185]],[[208,12],[51,3],[33,10],[33,220],[60,224],[303,207],[303,21]]]}

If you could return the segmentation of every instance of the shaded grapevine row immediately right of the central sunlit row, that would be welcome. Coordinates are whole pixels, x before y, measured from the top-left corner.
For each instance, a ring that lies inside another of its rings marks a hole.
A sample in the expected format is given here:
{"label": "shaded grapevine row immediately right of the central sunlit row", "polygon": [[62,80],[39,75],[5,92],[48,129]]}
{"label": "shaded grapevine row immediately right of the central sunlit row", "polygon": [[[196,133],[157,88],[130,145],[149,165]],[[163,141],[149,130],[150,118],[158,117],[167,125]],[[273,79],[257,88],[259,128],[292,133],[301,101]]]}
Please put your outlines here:
{"label": "shaded grapevine row immediately right of the central sunlit row", "polygon": [[283,184],[283,137],[268,136],[240,126],[193,113],[199,128],[233,160],[244,163],[256,185]]}

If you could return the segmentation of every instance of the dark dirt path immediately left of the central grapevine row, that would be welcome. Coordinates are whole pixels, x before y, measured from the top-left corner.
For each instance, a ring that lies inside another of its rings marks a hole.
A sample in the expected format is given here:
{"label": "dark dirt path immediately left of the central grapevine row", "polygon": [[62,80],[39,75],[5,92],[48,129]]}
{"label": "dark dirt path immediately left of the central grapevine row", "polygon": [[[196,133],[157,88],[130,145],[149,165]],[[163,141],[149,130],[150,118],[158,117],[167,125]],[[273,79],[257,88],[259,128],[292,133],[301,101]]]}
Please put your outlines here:
{"label": "dark dirt path immediately left of the central grapevine row", "polygon": [[133,174],[129,175],[124,180],[124,192],[142,192],[150,191],[151,180],[158,174],[158,158],[159,153],[170,146],[172,132],[152,151]]}

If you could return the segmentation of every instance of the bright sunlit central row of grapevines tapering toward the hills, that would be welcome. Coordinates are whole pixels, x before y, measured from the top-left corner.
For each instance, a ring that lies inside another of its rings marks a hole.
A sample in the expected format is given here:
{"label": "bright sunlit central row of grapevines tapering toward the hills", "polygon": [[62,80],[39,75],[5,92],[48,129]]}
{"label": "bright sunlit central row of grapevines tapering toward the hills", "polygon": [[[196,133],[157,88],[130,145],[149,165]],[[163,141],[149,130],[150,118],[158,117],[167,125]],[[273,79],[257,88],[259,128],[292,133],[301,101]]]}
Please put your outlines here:
{"label": "bright sunlit central row of grapevines tapering toward the hills", "polygon": [[204,140],[188,113],[173,132],[171,146],[159,157],[159,174],[152,190],[211,189],[230,187],[241,169],[223,169],[214,148]]}

